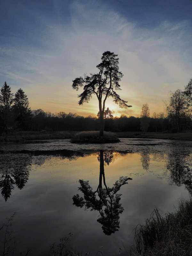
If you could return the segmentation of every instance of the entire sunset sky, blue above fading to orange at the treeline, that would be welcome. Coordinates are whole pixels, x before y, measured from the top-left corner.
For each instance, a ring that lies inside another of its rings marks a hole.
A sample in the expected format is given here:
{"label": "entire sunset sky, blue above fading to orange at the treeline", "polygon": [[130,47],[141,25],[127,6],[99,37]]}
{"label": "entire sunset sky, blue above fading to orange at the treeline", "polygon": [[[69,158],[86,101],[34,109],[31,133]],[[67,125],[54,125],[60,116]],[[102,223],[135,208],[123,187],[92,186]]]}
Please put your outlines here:
{"label": "entire sunset sky, blue above fading to orange at the treeline", "polygon": [[96,73],[102,53],[118,54],[117,116],[164,111],[168,93],[192,77],[190,0],[1,0],[0,86],[22,88],[31,109],[95,116],[98,101],[78,105],[72,80]]}

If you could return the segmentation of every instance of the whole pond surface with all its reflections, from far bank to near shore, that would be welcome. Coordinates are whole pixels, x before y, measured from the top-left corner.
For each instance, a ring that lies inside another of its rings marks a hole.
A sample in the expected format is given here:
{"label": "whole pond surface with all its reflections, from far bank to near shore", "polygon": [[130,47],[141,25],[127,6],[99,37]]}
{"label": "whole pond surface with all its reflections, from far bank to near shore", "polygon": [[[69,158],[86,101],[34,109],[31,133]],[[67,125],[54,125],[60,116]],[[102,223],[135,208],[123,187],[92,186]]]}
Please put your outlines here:
{"label": "whole pond surface with all its reflections, from far bank to near shore", "polygon": [[18,250],[36,256],[51,255],[49,246],[69,233],[68,248],[82,255],[128,255],[137,224],[192,194],[188,141],[8,143],[0,144],[0,163],[0,223],[16,212]]}

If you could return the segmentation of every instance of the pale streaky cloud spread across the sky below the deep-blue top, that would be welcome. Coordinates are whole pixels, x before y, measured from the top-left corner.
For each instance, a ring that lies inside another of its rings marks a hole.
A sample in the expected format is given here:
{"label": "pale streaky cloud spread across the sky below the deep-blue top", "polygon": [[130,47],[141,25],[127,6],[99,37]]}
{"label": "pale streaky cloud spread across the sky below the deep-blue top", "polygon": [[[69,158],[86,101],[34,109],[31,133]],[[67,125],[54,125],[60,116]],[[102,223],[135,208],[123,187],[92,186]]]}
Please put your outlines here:
{"label": "pale streaky cloud spread across the sky below the deep-blue top", "polygon": [[[167,99],[167,93],[182,90],[191,77],[189,22],[164,21],[156,28],[141,29],[99,1],[82,3],[71,2],[67,20],[61,11],[54,22],[45,14],[38,14],[34,19],[45,29],[38,31],[38,38],[31,35],[36,43],[25,46],[23,41],[21,47],[4,46],[2,83],[12,82],[15,90],[26,88],[33,108],[39,91],[38,106],[42,104],[46,111],[56,108],[60,111],[63,104],[65,112],[71,111],[70,106],[79,114],[89,108],[91,113],[97,113],[95,102],[95,106],[90,106],[90,102],[89,107],[84,107],[86,104],[78,107],[78,92],[73,91],[71,84],[72,79],[84,73],[97,72],[102,53],[109,50],[118,54],[124,74],[119,94],[133,105],[124,113],[139,115],[145,102],[151,112],[163,111],[162,101]],[[57,5],[55,8],[58,10]]]}

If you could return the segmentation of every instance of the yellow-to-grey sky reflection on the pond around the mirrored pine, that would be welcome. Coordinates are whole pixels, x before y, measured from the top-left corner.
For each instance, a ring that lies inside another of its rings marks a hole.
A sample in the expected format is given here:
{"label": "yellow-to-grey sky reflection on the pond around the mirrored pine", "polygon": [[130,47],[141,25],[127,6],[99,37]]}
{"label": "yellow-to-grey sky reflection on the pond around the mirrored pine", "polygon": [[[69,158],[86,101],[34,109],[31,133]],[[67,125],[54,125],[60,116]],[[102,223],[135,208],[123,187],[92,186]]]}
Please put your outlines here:
{"label": "yellow-to-grey sky reflection on the pond around the mirrored pine", "polygon": [[[165,159],[162,155],[160,158],[156,155],[155,160],[153,154],[149,156],[147,171],[142,168],[140,154],[117,155],[115,161],[105,166],[107,186],[112,187],[120,176],[132,180],[119,192],[124,212],[120,214],[120,229],[115,234],[104,235],[97,222],[98,212],[86,212],[72,205],[72,196],[79,193],[79,179],[89,180],[92,188],[97,188],[97,155],[79,157],[75,161],[59,161],[58,157],[50,159],[48,156],[40,167],[32,165],[25,187],[22,190],[15,188],[6,203],[0,198],[1,220],[16,212],[13,220],[15,235],[21,244],[33,249],[35,255],[42,255],[41,250],[45,252],[49,244],[59,242],[60,237],[70,232],[74,234],[71,246],[76,246],[79,251],[99,250],[104,255],[112,255],[106,252],[118,253],[123,243],[128,250],[134,232],[130,234],[138,223],[143,224],[155,207],[162,213],[174,211],[173,204],[177,205],[181,196],[188,198],[188,191],[183,186],[169,186],[167,177],[163,177]],[[121,255],[124,255],[123,250]]]}

